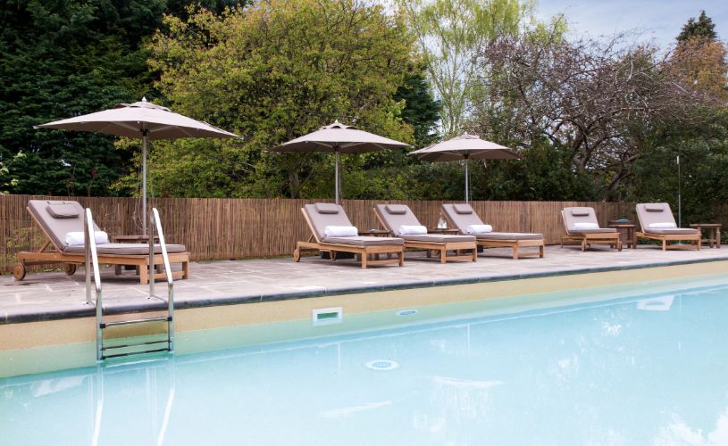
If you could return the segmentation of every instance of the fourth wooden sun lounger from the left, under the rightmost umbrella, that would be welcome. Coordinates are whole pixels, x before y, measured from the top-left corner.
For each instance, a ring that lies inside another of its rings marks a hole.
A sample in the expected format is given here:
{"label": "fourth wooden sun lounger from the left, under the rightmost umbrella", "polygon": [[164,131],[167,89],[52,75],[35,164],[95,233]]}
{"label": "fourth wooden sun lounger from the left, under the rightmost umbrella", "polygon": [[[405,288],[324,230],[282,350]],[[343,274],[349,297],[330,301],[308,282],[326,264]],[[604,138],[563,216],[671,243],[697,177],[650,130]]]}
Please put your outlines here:
{"label": "fourth wooden sun lounger from the left, under the rightmost umbrella", "polygon": [[[455,206],[462,207],[465,211],[469,211],[464,214],[467,221],[457,220],[455,215],[452,215],[450,211],[456,211]],[[451,227],[456,227],[461,234],[466,234],[466,228],[468,225],[482,225],[483,222],[475,214],[473,208],[469,204],[458,203],[458,204],[443,204],[442,215],[448,220]],[[536,236],[540,235],[540,236]],[[513,258],[515,260],[523,259],[524,257],[544,256],[544,242],[543,235],[541,234],[523,234],[523,233],[491,233],[475,235],[475,243],[484,249],[488,248],[511,248],[513,250]],[[521,251],[521,248],[537,248],[536,250]]]}

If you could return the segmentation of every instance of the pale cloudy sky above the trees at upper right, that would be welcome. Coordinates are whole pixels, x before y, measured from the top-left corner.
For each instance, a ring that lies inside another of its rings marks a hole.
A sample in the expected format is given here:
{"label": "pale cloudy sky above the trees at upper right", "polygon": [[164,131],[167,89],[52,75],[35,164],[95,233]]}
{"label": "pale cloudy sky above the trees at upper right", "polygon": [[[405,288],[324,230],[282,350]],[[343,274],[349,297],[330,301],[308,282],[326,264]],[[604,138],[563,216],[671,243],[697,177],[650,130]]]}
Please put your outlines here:
{"label": "pale cloudy sky above the trees at upper right", "polygon": [[629,29],[660,47],[674,44],[682,25],[705,10],[718,38],[728,42],[728,0],[537,0],[541,20],[565,13],[576,35],[613,36]]}

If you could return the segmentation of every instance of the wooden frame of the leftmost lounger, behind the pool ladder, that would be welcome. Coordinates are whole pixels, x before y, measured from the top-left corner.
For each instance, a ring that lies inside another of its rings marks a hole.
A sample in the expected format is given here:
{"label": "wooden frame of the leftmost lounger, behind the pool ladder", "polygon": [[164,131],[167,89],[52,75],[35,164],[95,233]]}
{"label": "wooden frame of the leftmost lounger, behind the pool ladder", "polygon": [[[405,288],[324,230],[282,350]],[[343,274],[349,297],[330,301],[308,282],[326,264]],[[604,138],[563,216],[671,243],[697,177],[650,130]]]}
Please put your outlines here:
{"label": "wooden frame of the leftmost lounger, behind the pool ladder", "polygon": [[[36,225],[40,227],[43,234],[46,235],[47,241],[38,251],[18,252],[18,263],[13,266],[13,277],[16,280],[22,280],[25,277],[25,267],[30,265],[47,265],[48,263],[63,263],[63,270],[71,276],[76,272],[78,265],[86,262],[86,254],[84,252],[63,252],[54,244],[53,238],[48,235],[46,228],[40,224],[33,212],[28,212]],[[48,249],[52,246],[52,249]],[[189,278],[189,252],[170,252],[170,264],[181,263],[180,271],[172,271],[172,278]],[[162,254],[155,254],[155,266],[160,267],[164,264]],[[139,274],[139,283],[147,284],[149,282],[149,255],[148,254],[98,254],[98,262],[105,265],[115,265],[114,273],[121,274],[121,266],[133,265],[137,267]],[[155,279],[166,279],[164,273],[155,274]]]}

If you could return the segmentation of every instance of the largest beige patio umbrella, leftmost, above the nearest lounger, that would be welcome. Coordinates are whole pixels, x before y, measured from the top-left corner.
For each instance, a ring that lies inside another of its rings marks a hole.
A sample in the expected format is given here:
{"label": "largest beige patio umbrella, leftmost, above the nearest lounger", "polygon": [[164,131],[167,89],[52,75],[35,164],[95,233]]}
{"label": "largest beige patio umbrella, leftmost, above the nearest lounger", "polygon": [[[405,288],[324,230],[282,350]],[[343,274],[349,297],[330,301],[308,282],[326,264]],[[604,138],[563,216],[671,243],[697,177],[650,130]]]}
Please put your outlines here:
{"label": "largest beige patio umbrella, leftmost, above the nearest lounger", "polygon": [[146,102],[117,103],[113,109],[96,111],[68,120],[56,120],[34,128],[62,128],[106,135],[138,137],[142,144],[142,227],[146,235],[146,140],[186,137],[238,137],[199,120],[174,113],[161,105]]}

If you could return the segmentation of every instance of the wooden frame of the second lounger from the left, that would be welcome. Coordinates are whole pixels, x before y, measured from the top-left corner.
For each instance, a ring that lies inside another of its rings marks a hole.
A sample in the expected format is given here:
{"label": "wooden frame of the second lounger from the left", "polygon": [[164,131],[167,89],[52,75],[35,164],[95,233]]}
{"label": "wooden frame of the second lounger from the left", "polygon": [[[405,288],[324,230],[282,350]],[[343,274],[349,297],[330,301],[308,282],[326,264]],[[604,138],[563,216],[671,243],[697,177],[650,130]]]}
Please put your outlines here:
{"label": "wooden frame of the second lounger from the left", "polygon": [[[400,267],[405,264],[405,247],[401,244],[372,244],[369,246],[357,246],[354,244],[327,244],[319,239],[319,235],[308,218],[308,214],[304,208],[301,208],[304,219],[308,227],[311,229],[311,236],[306,242],[297,242],[296,249],[293,250],[293,260],[301,260],[302,252],[329,252],[331,260],[336,260],[336,252],[351,252],[356,254],[361,262],[362,269],[370,265],[392,265],[398,264]],[[386,259],[380,259],[380,254],[387,254]],[[390,259],[389,254],[397,254],[397,257]],[[369,259],[369,256],[374,256]]]}

